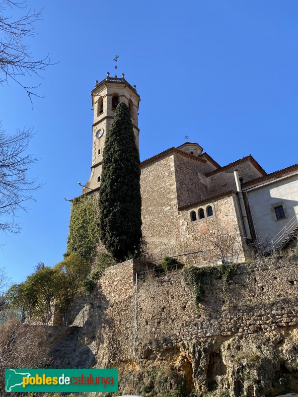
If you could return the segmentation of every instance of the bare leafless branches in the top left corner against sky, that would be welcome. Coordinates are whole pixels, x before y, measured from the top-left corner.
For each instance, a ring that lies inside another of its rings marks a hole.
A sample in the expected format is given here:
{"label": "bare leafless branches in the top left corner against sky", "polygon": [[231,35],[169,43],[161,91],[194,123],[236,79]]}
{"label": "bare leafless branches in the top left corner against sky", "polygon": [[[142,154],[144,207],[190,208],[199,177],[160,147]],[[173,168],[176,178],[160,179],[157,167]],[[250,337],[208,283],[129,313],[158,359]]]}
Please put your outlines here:
{"label": "bare leafless branches in the top left corner against sky", "polygon": [[23,87],[31,101],[36,86],[26,86],[21,82],[21,76],[38,76],[45,67],[50,65],[49,57],[35,60],[31,57],[25,40],[35,35],[35,22],[41,19],[41,12],[28,9],[21,17],[15,19],[4,15],[4,12],[14,8],[26,8],[26,0],[0,0],[0,83],[13,80]]}

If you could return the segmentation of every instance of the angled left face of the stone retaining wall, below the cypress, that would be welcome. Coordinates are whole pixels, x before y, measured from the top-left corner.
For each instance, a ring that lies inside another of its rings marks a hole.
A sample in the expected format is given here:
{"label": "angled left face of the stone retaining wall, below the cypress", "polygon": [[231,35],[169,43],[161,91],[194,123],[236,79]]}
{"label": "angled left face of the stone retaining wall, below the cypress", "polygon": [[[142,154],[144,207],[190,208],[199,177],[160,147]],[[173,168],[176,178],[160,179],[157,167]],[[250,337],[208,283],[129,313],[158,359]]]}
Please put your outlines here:
{"label": "angled left face of the stone retaining wall, below the cypress", "polygon": [[135,260],[109,267],[91,295],[88,321],[80,346],[88,346],[98,366],[109,367],[131,356],[135,321]]}

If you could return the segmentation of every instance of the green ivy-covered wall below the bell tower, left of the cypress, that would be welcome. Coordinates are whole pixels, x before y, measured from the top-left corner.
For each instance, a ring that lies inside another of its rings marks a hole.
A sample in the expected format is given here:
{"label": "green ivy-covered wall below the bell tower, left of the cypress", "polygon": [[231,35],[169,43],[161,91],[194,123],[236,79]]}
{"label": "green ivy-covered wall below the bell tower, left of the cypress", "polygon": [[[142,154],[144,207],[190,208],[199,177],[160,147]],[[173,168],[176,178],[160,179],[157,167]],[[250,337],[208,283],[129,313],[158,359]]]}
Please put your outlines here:
{"label": "green ivy-covered wall below the bell tower, left of the cypress", "polygon": [[98,194],[86,194],[72,200],[67,254],[77,253],[90,262],[99,241]]}

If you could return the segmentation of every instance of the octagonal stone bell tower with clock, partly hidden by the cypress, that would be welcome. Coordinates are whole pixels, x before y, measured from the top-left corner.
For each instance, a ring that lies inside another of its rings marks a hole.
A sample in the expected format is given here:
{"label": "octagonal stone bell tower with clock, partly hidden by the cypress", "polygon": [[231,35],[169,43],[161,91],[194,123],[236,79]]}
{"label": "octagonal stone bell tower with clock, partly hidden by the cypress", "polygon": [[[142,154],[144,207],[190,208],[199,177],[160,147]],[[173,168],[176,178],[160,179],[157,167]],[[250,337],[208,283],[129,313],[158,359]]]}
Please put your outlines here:
{"label": "octagonal stone bell tower with clock, partly hidden by the cypress", "polygon": [[82,193],[96,190],[100,185],[102,170],[102,152],[105,144],[105,137],[110,128],[116,107],[118,103],[124,102],[131,113],[136,145],[139,149],[139,133],[138,128],[138,110],[141,101],[140,95],[137,93],[136,85],[133,87],[125,80],[124,73],[122,78],[107,77],[98,82],[96,80],[95,88],[91,91],[92,107],[93,107],[93,125],[92,125],[92,165],[91,175]]}

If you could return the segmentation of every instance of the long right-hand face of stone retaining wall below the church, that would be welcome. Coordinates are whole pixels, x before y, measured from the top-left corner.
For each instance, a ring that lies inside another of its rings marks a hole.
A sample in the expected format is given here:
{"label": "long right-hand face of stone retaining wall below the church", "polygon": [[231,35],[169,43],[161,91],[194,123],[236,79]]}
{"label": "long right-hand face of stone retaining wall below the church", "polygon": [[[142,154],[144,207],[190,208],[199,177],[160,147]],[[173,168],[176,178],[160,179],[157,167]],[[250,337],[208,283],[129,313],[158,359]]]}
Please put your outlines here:
{"label": "long right-hand face of stone retaining wall below the church", "polygon": [[174,272],[139,286],[138,334],[143,345],[169,347],[198,336],[298,327],[297,302],[297,263],[285,260],[240,265],[225,292],[223,280],[213,279],[199,311],[182,271]]}

